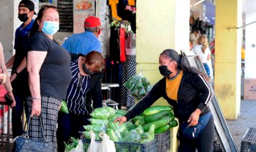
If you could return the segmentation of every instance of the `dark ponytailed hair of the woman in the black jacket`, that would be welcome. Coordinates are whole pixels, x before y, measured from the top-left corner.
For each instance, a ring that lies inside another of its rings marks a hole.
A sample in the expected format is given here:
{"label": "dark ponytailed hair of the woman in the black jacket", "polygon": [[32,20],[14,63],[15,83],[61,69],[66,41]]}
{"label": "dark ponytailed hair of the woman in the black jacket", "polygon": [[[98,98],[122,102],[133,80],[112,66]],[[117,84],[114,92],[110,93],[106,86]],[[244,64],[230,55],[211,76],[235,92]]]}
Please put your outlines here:
{"label": "dark ponytailed hair of the woman in the black jacket", "polygon": [[171,61],[176,61],[178,64],[178,69],[182,69],[183,71],[189,71],[190,73],[201,75],[207,81],[209,81],[209,78],[207,77],[207,75],[205,75],[204,73],[201,73],[201,71],[195,69],[194,67],[190,67],[187,61],[185,60],[185,57],[181,54],[178,54],[177,51],[172,49],[166,49],[160,55],[163,55],[163,54],[168,56]]}

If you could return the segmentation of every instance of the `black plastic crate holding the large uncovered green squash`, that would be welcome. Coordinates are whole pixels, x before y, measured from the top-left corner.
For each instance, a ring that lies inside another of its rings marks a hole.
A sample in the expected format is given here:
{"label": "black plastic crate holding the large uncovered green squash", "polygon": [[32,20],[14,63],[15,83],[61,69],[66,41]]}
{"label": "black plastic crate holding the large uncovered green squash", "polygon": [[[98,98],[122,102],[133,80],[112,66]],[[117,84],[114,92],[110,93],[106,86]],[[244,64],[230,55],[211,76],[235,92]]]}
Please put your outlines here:
{"label": "black plastic crate holding the large uncovered green squash", "polygon": [[170,151],[170,130],[160,134],[155,134],[155,139],[157,141],[158,152]]}

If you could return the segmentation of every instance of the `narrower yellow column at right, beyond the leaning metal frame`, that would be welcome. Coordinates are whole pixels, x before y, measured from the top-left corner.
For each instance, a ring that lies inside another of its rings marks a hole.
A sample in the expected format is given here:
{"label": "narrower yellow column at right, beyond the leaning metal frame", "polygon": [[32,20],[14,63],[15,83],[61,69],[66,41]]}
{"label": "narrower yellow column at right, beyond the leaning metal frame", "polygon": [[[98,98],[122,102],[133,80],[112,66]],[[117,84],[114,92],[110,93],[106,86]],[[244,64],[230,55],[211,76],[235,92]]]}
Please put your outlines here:
{"label": "narrower yellow column at right, beyond the leaning metal frame", "polygon": [[242,0],[216,0],[214,89],[228,120],[240,113],[242,7]]}

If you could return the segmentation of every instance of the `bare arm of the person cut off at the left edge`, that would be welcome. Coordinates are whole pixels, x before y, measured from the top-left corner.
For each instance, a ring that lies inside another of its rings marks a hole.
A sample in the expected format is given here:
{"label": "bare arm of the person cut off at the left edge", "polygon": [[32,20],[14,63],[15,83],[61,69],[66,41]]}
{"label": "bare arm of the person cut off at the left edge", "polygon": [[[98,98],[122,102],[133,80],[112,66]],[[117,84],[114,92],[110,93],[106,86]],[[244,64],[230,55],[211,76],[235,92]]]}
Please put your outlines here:
{"label": "bare arm of the person cut off at the left edge", "polygon": [[7,71],[7,68],[5,66],[5,58],[3,55],[3,45],[0,42],[0,73],[4,73],[4,75],[0,75],[0,83],[5,85],[5,89],[7,90],[7,94],[11,97],[13,100],[13,103],[11,104],[11,108],[16,106],[15,98],[13,96],[11,82],[9,79],[9,74]]}

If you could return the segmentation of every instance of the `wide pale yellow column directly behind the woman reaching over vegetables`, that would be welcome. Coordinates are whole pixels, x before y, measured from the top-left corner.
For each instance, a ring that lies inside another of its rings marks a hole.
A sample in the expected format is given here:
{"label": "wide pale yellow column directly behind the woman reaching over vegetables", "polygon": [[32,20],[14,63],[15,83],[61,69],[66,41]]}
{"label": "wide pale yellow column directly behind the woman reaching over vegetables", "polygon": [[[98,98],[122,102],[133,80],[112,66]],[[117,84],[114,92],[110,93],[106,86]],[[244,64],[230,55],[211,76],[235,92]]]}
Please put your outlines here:
{"label": "wide pale yellow column directly behind the woman reaching over vegetables", "polygon": [[[189,6],[187,0],[137,1],[137,73],[141,71],[152,85],[162,78],[158,70],[162,50],[189,49]],[[168,103],[160,99],[156,104]],[[171,130],[170,151],[177,151],[177,130]]]}

